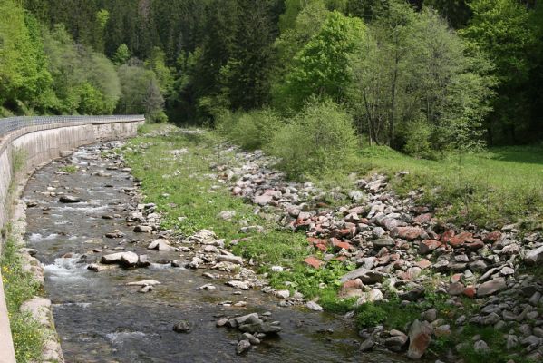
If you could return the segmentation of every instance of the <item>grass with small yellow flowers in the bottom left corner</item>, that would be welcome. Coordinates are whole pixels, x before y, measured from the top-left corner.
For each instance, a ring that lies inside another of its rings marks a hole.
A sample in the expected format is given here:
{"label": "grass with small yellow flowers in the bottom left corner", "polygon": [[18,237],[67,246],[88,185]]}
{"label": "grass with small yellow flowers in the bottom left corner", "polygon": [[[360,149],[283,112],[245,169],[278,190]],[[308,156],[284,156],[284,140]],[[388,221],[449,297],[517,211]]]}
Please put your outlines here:
{"label": "grass with small yellow flowers in the bottom left corner", "polygon": [[23,270],[15,240],[11,237],[5,241],[0,266],[15,346],[15,358],[20,363],[42,361],[44,330],[30,314],[19,311],[25,300],[38,294],[39,283],[34,280],[30,272]]}

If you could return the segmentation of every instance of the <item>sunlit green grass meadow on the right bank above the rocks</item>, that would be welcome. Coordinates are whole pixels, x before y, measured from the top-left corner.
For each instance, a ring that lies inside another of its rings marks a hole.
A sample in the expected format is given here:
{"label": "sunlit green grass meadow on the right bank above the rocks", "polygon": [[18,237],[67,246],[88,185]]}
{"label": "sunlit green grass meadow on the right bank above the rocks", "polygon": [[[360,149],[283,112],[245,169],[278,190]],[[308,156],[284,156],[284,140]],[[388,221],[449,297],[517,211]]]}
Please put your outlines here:
{"label": "sunlit green grass meadow on the right bank above the rocks", "polygon": [[[409,175],[394,177],[397,172]],[[522,221],[524,228],[543,228],[543,146],[504,147],[439,161],[415,159],[384,146],[364,147],[343,170],[315,177],[325,188],[353,188],[349,175],[382,172],[400,195],[423,192],[421,204],[458,224],[473,222],[490,228]],[[530,216],[528,219],[526,216]]]}

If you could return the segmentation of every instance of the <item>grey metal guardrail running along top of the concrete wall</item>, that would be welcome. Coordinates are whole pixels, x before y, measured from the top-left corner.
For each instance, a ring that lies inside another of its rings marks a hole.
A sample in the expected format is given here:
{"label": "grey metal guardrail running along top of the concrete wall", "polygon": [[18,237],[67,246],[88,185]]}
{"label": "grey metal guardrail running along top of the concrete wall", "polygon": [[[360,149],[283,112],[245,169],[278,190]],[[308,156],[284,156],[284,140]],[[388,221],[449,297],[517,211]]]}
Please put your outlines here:
{"label": "grey metal guardrail running along top of the concrete wall", "polygon": [[0,139],[8,132],[14,132],[28,126],[40,126],[53,123],[127,123],[144,120],[142,114],[112,116],[20,116],[0,118]]}

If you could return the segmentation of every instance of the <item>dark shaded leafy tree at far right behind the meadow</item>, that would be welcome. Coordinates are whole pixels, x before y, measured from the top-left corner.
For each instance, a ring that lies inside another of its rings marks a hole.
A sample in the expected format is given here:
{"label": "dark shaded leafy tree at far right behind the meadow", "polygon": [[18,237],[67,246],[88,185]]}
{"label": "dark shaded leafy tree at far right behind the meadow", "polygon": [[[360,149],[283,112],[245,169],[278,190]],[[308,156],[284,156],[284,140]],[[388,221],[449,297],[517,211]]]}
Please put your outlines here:
{"label": "dark shaded leafy tree at far right behind the meadow", "polygon": [[470,9],[473,16],[461,34],[496,64],[493,74],[500,83],[495,112],[487,120],[490,142],[519,142],[519,133],[530,138],[534,127],[527,122],[526,104],[533,103],[529,100],[534,94],[529,92],[533,84],[529,76],[543,60],[530,56],[538,43],[538,27],[530,23],[527,6],[516,0],[475,0]]}

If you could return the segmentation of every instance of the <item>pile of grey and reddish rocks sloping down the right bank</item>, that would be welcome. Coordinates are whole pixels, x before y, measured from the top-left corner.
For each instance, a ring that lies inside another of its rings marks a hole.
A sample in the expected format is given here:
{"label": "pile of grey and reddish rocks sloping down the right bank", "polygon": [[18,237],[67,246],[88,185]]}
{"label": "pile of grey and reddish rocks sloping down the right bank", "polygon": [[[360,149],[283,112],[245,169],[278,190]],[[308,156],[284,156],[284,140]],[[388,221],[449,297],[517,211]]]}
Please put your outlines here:
{"label": "pile of grey and reddish rocks sloping down the right bank", "polygon": [[[322,260],[308,256],[305,263],[315,269],[330,260],[356,264],[358,268],[340,280],[343,297],[364,304],[393,291],[403,303],[417,303],[424,301],[426,282],[437,281],[434,292],[447,294],[451,306],[461,306],[461,298],[467,297],[477,299],[482,308],[477,315],[455,318],[456,329],[478,324],[509,330],[504,334],[508,348],[522,345],[528,358],[543,358],[543,316],[538,309],[543,281],[520,272],[543,263],[541,234],[522,235],[516,225],[487,231],[442,223],[434,211],[417,205],[417,192],[400,198],[387,189],[384,175],[354,180],[352,191],[321,191],[308,182],[286,182],[262,152],[238,152],[235,159],[240,163],[216,164],[214,170],[233,195],[254,203],[257,212],[274,215],[284,228],[305,231],[308,244],[324,255]],[[330,207],[325,201],[331,199],[347,202]],[[422,319],[412,326],[421,324],[423,341],[451,333],[443,319]],[[389,336],[384,346],[396,350],[413,341],[402,334],[384,332]],[[473,344],[484,348],[483,343],[474,339]],[[409,351],[414,357],[412,348]]]}

